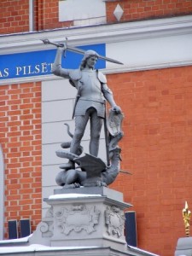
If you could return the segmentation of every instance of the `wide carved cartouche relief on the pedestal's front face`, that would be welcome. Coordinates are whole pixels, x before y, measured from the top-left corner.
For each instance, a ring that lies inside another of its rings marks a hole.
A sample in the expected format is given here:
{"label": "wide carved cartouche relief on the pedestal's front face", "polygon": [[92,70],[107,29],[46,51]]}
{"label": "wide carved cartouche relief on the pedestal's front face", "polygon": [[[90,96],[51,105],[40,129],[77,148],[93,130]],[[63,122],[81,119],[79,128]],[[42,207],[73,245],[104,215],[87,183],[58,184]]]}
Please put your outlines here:
{"label": "wide carved cartouche relief on the pedestal's front face", "polygon": [[55,212],[57,224],[61,227],[61,233],[68,235],[72,230],[80,232],[85,230],[90,234],[95,230],[94,226],[99,223],[100,211],[96,207],[85,207],[75,205],[73,207],[62,207]]}

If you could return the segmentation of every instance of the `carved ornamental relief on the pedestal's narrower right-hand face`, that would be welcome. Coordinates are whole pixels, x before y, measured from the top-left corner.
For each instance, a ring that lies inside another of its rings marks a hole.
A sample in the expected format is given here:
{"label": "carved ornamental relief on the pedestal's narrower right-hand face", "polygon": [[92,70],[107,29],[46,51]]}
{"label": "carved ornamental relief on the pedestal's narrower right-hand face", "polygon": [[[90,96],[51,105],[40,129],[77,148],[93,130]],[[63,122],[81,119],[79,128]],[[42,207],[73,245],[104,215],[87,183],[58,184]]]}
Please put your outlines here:
{"label": "carved ornamental relief on the pedestal's narrower right-hand face", "polygon": [[105,211],[105,224],[108,227],[107,232],[109,236],[123,236],[125,225],[124,212],[118,207],[107,207]]}

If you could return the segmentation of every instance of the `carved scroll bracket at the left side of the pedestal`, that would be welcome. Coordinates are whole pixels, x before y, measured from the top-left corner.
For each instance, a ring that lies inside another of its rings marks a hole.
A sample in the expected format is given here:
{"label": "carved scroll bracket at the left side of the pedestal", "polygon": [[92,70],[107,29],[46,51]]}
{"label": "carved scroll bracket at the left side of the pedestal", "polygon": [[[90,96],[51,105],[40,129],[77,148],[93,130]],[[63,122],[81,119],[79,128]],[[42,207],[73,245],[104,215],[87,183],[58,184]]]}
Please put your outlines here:
{"label": "carved scroll bracket at the left side of the pedestal", "polygon": [[42,233],[42,237],[53,236],[53,207],[46,212],[45,217],[38,224],[37,230]]}

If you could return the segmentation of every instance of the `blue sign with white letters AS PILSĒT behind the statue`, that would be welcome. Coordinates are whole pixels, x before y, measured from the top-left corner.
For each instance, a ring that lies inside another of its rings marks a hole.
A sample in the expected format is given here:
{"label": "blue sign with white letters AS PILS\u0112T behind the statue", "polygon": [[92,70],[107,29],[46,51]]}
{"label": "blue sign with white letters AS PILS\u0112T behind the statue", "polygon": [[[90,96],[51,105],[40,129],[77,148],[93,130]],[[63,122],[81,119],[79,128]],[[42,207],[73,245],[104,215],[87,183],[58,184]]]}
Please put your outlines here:
{"label": "blue sign with white letters AS PILS\u0112T behind the statue", "polygon": [[[105,44],[92,44],[79,47],[93,49],[99,55],[106,55]],[[45,49],[26,53],[0,55],[0,80],[19,79],[51,74],[51,67],[55,60],[56,49]],[[62,58],[64,68],[79,68],[83,55],[67,51],[66,58]],[[105,68],[105,61],[98,60],[96,68]]]}

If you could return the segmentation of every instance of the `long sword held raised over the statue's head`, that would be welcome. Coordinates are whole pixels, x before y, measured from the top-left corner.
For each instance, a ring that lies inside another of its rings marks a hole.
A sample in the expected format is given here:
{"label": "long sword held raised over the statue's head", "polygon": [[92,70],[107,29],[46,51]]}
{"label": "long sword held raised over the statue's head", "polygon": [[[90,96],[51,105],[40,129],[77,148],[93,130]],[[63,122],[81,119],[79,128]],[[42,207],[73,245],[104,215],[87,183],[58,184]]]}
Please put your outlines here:
{"label": "long sword held raised over the statue's head", "polygon": [[[79,49],[79,48],[76,48],[76,47],[69,46],[68,44],[65,44],[65,43],[63,44],[63,43],[50,42],[49,39],[42,39],[41,41],[43,41],[44,44],[52,44],[52,45],[55,45],[56,47],[66,46],[67,50],[79,53],[81,55],[84,55],[84,53],[86,51],[84,49]],[[116,60],[113,60],[111,58],[108,58],[108,57],[105,57],[105,56],[102,56],[102,55],[98,55],[98,59],[103,60],[103,61],[109,61],[109,62],[112,62],[112,63],[115,63],[115,64],[123,65],[123,63],[120,62],[120,61],[116,61]]]}

